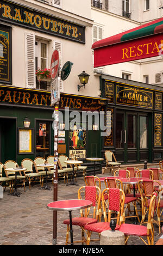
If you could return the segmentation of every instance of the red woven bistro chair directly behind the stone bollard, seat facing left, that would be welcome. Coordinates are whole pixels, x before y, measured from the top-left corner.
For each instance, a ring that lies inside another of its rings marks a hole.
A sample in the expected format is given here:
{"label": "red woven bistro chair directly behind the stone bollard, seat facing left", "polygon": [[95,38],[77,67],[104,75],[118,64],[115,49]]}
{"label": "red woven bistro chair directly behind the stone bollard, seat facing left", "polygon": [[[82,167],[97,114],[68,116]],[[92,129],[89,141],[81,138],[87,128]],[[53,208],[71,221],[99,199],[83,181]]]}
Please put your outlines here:
{"label": "red woven bistro chair directly behind the stone bollard, seat facing left", "polygon": [[[107,194],[107,197],[105,195]],[[120,225],[123,220],[123,210],[124,210],[124,199],[125,195],[123,190],[118,188],[105,188],[102,192],[102,206],[104,212],[104,222],[96,222],[96,223],[87,223],[84,226],[84,229],[87,230],[87,245],[90,245],[90,239],[92,232],[98,233],[100,236],[102,231],[111,230],[110,228],[110,220],[111,214],[115,213],[116,216],[116,227],[115,230],[120,228]]]}

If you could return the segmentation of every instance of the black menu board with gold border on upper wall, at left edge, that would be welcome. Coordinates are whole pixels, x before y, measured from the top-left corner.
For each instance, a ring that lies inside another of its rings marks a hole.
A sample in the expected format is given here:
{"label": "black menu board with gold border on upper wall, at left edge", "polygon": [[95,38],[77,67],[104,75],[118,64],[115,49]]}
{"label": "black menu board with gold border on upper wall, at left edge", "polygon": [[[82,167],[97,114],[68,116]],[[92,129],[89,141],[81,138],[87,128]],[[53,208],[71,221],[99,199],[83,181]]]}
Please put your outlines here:
{"label": "black menu board with gold border on upper wall, at left edge", "polygon": [[0,81],[11,82],[10,28],[0,26]]}

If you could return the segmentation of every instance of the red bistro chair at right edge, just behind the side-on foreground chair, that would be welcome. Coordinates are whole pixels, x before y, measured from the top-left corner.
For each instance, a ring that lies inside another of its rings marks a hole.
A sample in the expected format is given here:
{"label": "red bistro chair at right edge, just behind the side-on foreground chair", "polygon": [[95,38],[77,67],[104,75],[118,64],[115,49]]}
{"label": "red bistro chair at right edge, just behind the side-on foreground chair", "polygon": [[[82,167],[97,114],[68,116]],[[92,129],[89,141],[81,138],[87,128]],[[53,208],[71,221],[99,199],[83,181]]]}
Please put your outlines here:
{"label": "red bistro chair at right edge, just behind the side-on foreground chair", "polygon": [[[158,191],[155,191],[154,183],[158,184],[159,186]],[[138,187],[141,193],[141,204],[142,204],[142,219],[140,224],[146,223],[145,217],[147,212],[149,211],[150,198],[153,193],[156,193],[158,194],[158,199],[156,199],[154,210],[157,216],[157,221],[153,220],[153,222],[159,226],[159,233],[161,233],[161,222],[163,222],[163,221],[160,221],[160,216],[162,215],[162,211],[163,211],[161,210],[160,212],[160,209],[163,208],[163,200],[161,200],[159,196],[161,192],[161,184],[159,181],[155,181],[155,180],[142,181],[142,182],[139,181]]]}

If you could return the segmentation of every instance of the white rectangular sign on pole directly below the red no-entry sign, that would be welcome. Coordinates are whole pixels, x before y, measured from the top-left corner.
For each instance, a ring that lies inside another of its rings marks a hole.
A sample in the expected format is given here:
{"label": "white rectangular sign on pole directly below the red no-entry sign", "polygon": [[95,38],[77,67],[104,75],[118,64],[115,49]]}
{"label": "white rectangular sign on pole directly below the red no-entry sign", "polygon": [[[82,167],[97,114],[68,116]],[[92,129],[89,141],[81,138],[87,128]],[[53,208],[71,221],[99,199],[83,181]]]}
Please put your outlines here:
{"label": "white rectangular sign on pole directly below the red no-entry sign", "polygon": [[60,77],[56,77],[51,83],[51,106],[60,100]]}

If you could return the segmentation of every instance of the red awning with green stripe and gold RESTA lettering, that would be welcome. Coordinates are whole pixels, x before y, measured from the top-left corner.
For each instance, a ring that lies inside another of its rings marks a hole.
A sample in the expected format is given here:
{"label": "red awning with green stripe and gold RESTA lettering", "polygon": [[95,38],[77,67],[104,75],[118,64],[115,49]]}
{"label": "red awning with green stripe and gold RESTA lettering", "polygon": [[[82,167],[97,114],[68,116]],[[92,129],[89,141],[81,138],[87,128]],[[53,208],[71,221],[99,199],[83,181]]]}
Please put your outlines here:
{"label": "red awning with green stripe and gold RESTA lettering", "polygon": [[163,18],[110,36],[92,45],[94,66],[154,57],[162,53]]}

